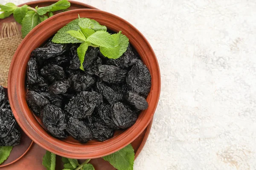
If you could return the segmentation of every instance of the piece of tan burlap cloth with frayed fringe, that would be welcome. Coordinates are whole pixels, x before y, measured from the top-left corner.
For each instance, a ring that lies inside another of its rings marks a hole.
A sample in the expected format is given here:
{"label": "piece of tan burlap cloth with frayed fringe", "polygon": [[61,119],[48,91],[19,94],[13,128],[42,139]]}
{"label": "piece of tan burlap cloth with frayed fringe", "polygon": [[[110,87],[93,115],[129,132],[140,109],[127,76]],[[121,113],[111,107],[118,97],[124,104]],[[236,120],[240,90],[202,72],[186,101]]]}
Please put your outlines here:
{"label": "piece of tan burlap cloth with frayed fringe", "polygon": [[9,67],[22,37],[16,23],[3,23],[0,32],[0,85],[7,87]]}

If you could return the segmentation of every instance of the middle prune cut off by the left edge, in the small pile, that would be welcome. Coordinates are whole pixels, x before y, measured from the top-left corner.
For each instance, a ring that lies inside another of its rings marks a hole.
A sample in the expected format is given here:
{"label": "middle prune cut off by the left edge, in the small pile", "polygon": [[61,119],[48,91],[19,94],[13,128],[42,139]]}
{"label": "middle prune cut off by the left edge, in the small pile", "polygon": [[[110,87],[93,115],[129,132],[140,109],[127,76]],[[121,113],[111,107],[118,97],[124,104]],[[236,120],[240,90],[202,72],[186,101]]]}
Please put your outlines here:
{"label": "middle prune cut off by the left edge, in the small pile", "polygon": [[16,120],[10,109],[0,109],[0,138],[9,136],[15,129]]}

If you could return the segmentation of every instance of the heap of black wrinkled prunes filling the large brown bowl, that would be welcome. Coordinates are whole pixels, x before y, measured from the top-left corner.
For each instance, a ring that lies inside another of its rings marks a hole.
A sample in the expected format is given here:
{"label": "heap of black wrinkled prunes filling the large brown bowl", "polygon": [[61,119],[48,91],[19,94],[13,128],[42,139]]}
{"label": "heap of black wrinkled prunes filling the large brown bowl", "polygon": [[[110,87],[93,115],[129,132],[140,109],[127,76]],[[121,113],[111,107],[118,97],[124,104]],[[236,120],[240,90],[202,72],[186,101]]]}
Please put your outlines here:
{"label": "heap of black wrinkled prunes filling the large brown bowl", "polygon": [[32,51],[26,100],[52,136],[105,141],[148,108],[151,75],[131,45],[118,59],[89,47],[82,71],[78,46],[49,40]]}

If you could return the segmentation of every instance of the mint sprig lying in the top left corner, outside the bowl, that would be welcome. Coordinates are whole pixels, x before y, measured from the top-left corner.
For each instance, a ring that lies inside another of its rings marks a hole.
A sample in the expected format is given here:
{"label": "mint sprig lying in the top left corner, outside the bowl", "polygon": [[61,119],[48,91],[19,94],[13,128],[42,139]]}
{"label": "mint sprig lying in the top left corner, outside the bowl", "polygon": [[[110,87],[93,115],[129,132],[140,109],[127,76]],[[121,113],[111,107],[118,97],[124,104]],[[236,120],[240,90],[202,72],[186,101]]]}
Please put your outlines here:
{"label": "mint sprig lying in the top left corner, outside the bowl", "polygon": [[68,0],[59,0],[58,2],[45,7],[36,6],[32,8],[27,5],[21,7],[16,6],[13,3],[0,4],[0,19],[9,17],[13,14],[15,20],[22,25],[21,33],[24,38],[35,26],[39,23],[52,17],[53,11],[64,10],[70,7]]}

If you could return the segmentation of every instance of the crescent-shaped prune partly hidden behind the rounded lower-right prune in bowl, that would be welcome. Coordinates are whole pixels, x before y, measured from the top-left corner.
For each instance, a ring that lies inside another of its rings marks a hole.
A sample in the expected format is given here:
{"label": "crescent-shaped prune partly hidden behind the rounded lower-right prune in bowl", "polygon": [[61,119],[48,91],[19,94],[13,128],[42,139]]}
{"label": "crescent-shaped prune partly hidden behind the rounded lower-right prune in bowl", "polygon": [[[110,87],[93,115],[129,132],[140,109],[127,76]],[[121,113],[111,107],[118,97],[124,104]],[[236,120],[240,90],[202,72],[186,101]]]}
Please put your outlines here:
{"label": "crescent-shaped prune partly hidden behind the rounded lower-right prune in bowl", "polygon": [[111,105],[103,103],[99,106],[97,111],[97,117],[101,120],[105,125],[107,125],[111,129],[118,129],[118,127],[113,122]]}

